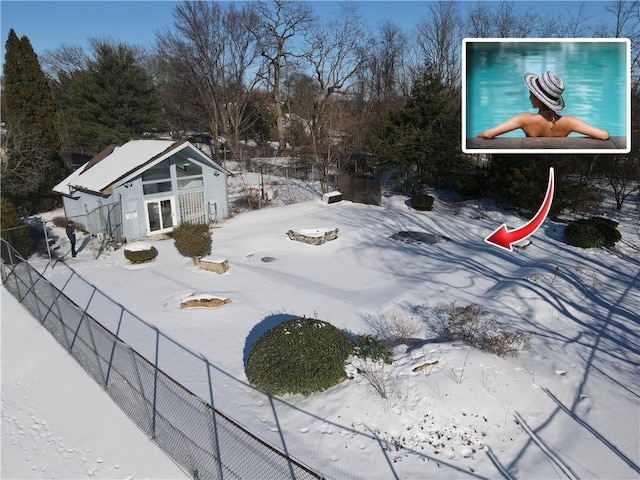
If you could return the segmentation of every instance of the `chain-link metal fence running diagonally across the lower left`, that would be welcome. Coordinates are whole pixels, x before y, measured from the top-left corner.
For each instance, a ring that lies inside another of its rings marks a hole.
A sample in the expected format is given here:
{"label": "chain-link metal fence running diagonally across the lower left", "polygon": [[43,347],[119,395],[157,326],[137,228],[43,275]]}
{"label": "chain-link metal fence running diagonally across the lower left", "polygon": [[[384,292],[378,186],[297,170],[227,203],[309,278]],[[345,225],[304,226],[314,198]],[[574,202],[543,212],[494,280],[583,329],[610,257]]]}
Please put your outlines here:
{"label": "chain-link metal fence running diagonally across the lower left", "polygon": [[0,269],[3,286],[188,475],[323,478],[183,387],[0,242],[8,252]]}

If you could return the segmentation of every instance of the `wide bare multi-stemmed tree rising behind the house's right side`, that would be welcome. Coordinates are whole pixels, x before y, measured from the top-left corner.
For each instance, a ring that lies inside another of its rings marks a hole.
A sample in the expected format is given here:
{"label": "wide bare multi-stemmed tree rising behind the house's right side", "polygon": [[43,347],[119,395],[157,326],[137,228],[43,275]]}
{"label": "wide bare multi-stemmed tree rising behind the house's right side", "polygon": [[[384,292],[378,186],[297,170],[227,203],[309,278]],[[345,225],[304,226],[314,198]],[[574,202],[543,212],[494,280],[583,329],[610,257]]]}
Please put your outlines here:
{"label": "wide bare multi-stemmed tree rising behind the house's right side", "polygon": [[247,127],[247,96],[257,85],[259,52],[252,31],[257,15],[250,3],[238,11],[219,3],[187,1],[174,9],[174,32],[157,39],[159,55],[183,72],[207,112],[214,155],[220,159],[219,135],[232,155]]}

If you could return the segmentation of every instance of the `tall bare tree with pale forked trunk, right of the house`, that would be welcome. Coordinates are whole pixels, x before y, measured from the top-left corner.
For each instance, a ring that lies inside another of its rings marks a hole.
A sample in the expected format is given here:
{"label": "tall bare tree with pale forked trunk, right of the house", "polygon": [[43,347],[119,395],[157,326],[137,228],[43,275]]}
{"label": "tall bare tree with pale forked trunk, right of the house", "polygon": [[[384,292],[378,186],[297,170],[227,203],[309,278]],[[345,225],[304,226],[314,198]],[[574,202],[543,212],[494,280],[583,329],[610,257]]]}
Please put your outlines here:
{"label": "tall bare tree with pale forked trunk, right of the house", "polygon": [[271,93],[278,131],[278,150],[282,152],[286,147],[282,109],[284,102],[281,96],[283,68],[287,62],[301,56],[301,52],[294,50],[291,40],[296,34],[304,33],[310,28],[313,15],[307,4],[292,0],[273,0],[271,4],[260,1],[257,9],[262,20],[255,33],[261,46],[260,53],[266,60],[266,69],[262,75]]}

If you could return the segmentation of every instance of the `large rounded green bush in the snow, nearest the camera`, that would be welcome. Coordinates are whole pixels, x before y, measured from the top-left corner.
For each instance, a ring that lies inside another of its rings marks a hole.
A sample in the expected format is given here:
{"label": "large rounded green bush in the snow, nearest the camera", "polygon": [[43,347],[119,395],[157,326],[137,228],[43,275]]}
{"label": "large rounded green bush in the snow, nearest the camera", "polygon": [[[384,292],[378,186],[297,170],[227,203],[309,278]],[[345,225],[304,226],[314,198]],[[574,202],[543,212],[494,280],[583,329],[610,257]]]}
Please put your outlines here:
{"label": "large rounded green bush in the snow, nearest the camera", "polygon": [[344,364],[352,348],[330,323],[294,318],[256,341],[247,361],[247,378],[272,395],[320,392],[346,376]]}

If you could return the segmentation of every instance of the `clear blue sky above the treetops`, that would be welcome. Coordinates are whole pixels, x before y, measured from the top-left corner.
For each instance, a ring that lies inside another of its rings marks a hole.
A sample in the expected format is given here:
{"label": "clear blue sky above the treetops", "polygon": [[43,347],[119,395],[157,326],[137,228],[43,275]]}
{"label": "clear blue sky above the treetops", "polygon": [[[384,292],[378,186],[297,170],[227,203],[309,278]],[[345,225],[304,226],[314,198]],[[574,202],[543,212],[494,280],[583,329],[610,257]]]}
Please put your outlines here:
{"label": "clear blue sky above the treetops", "polygon": [[[62,44],[87,45],[91,37],[119,40],[142,47],[152,47],[157,32],[171,26],[174,1],[0,1],[0,51],[13,28],[18,36],[26,35],[38,55]],[[330,15],[339,5],[334,1],[309,2],[320,16]],[[391,20],[410,31],[429,10],[427,1],[358,1],[360,13],[369,26]],[[462,1],[474,7],[476,2]],[[585,2],[592,18],[604,12],[605,2]],[[518,9],[536,13],[560,14],[577,2],[515,2]]]}

